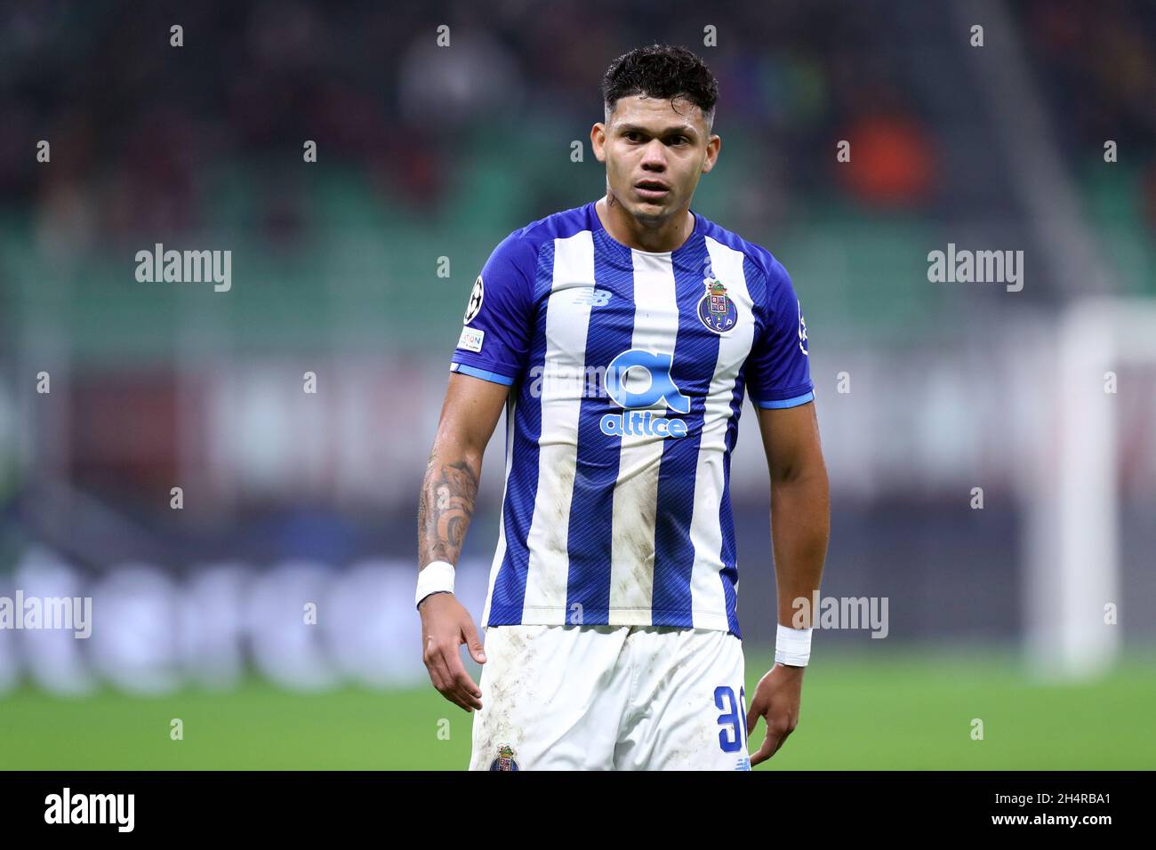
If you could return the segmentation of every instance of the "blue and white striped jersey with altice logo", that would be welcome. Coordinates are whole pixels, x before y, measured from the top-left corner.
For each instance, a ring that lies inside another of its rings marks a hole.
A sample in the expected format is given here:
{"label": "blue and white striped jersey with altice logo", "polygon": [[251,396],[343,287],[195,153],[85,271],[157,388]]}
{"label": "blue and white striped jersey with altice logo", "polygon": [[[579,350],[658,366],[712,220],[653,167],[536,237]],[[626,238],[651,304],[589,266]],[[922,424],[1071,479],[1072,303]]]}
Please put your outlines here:
{"label": "blue and white striped jersey with altice logo", "polygon": [[484,626],[740,635],[743,394],[814,398],[802,310],[769,251],[698,214],[651,253],[615,241],[593,201],[556,213],[494,250],[450,368],[511,386]]}

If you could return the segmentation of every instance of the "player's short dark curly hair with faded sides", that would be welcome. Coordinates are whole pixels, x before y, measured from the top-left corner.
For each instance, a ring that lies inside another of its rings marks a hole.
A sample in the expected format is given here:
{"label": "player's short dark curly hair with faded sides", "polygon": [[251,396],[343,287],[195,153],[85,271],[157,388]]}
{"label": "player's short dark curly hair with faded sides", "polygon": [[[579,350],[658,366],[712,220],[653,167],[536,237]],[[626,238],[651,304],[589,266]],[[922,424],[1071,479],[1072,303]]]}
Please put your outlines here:
{"label": "player's short dark curly hair with faded sides", "polygon": [[602,77],[602,102],[607,120],[621,98],[633,95],[672,102],[676,97],[684,97],[703,110],[710,128],[714,124],[719,83],[706,62],[686,47],[652,44],[623,53],[606,69]]}

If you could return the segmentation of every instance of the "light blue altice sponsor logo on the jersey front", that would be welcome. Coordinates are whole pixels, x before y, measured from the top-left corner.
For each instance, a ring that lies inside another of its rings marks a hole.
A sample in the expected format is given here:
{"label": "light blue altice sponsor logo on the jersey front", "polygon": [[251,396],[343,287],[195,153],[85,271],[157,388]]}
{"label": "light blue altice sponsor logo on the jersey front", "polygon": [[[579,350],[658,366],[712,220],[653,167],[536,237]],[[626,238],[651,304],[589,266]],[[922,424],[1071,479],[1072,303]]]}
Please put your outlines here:
{"label": "light blue altice sponsor logo on the jersey front", "polygon": [[673,357],[669,354],[631,348],[610,361],[606,368],[606,392],[628,413],[602,416],[602,434],[608,436],[647,435],[687,436],[687,423],[667,419],[650,409],[665,405],[675,413],[690,413],[690,399],[670,378]]}

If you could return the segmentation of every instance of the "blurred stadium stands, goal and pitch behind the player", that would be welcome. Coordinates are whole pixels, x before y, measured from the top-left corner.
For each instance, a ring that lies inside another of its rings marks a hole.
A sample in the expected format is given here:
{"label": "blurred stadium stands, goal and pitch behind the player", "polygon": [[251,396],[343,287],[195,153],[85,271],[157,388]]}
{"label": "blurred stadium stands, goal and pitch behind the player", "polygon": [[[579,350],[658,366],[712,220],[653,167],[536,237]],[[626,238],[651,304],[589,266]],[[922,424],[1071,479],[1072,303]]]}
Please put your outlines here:
{"label": "blurred stadium stands, goal and pitch behind the player", "polygon": [[[87,641],[0,630],[0,768],[465,767],[412,601],[450,354],[494,245],[602,194],[571,142],[652,42],[720,82],[694,209],[802,298],[823,596],[889,601],[884,640],[816,635],[766,768],[1156,767],[1156,5],[509,0],[0,5],[0,597],[94,599]],[[231,290],[136,282],[155,243],[231,250]],[[1022,250],[1023,290],[929,282],[948,243]],[[748,687],[775,628],[750,409]]]}

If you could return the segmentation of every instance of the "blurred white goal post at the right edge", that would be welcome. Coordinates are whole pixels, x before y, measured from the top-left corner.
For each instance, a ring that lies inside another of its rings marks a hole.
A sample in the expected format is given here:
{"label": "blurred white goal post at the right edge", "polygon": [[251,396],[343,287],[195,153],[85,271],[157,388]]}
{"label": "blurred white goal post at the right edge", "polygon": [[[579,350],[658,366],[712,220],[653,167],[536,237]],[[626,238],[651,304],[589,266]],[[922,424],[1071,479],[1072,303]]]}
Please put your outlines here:
{"label": "blurred white goal post at the right edge", "polygon": [[1098,677],[1120,650],[1121,367],[1156,365],[1156,300],[1072,303],[1054,327],[1025,481],[1025,649],[1038,679]]}

